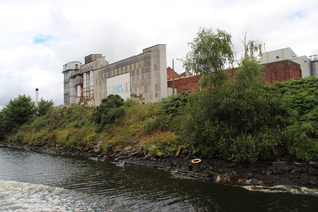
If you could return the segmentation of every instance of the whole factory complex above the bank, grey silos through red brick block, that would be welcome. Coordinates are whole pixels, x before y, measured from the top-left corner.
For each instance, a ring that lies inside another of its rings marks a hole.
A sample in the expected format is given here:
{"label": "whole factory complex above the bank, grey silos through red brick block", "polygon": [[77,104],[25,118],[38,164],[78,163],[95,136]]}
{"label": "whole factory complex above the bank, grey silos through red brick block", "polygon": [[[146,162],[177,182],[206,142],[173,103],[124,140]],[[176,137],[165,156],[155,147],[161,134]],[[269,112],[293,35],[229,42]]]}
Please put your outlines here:
{"label": "whole factory complex above the bank, grey silos through red brick block", "polygon": [[[84,59],[83,65],[75,61],[63,66],[64,105],[86,102],[97,106],[110,94],[123,99],[143,94],[145,103],[154,103],[172,93],[200,90],[200,76],[189,72],[178,74],[166,68],[166,49],[162,44],[112,64],[101,54]],[[262,63],[264,76],[270,83],[318,74],[317,57],[298,57],[291,48],[263,53]],[[227,71],[231,75],[236,70]]]}

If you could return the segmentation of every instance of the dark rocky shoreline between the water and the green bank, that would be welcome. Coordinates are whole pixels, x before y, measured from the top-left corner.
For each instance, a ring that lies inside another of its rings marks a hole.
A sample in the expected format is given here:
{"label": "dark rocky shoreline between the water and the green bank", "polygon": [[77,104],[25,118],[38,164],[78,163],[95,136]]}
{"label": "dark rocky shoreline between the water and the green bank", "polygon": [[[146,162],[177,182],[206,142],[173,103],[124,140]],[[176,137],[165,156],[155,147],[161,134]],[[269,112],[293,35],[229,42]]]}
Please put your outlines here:
{"label": "dark rocky shoreline between the water and the green bank", "polygon": [[144,155],[142,141],[122,148],[116,146],[111,152],[103,151],[98,145],[93,148],[66,149],[64,147],[29,146],[21,143],[0,142],[0,146],[31,149],[36,151],[83,156],[94,160],[115,160],[118,166],[143,166],[170,172],[174,177],[203,179],[230,185],[257,186],[300,186],[318,189],[318,163],[284,159],[257,163],[238,163],[223,159],[202,159],[192,163],[189,155],[178,152],[177,156],[159,157]]}

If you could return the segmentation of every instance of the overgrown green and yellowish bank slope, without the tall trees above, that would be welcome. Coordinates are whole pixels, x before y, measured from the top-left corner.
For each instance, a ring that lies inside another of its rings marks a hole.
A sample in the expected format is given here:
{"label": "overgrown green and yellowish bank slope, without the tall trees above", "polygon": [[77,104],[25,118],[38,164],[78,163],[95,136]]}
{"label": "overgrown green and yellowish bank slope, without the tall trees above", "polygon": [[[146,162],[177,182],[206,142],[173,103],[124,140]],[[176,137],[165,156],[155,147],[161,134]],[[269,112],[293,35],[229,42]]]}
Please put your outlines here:
{"label": "overgrown green and yellowish bank slope, without the tall trees above", "polygon": [[14,129],[6,141],[66,148],[101,142],[111,150],[139,140],[145,154],[161,156],[181,146],[190,154],[233,161],[284,155],[318,161],[317,77],[266,85],[257,92],[238,88],[242,84],[224,86],[172,95],[158,104],[125,101],[122,116],[102,128],[92,119],[96,107],[54,108]]}

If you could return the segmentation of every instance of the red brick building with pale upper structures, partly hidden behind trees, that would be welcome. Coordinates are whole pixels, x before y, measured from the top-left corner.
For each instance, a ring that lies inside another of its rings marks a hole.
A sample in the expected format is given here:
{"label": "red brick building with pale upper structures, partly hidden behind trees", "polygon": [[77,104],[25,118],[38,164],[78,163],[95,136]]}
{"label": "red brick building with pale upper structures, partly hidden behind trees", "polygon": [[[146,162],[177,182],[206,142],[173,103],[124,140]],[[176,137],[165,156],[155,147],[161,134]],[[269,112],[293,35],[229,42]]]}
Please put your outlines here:
{"label": "red brick building with pale upper structures, partly hidden behind trees", "polygon": [[[310,58],[310,59],[309,59]],[[262,65],[265,79],[274,83],[275,81],[283,81],[289,79],[300,79],[307,76],[318,74],[318,57],[316,56],[298,57],[291,48],[279,49],[262,54]],[[237,68],[234,69],[234,72]],[[232,69],[226,70],[232,75]],[[200,90],[198,86],[200,76],[187,73],[177,74],[174,72],[174,80],[172,80],[172,69],[167,69],[168,88],[174,88],[175,93],[186,90],[192,92]]]}

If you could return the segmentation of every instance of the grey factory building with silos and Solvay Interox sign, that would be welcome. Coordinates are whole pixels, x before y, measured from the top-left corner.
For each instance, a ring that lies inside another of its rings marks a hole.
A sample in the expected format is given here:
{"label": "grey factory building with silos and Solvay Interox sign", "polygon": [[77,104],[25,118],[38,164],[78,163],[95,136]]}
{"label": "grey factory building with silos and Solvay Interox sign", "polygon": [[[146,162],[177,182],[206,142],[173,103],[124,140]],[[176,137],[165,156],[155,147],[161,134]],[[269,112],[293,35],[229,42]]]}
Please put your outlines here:
{"label": "grey factory building with silos and Solvay Interox sign", "polygon": [[85,64],[65,64],[64,105],[87,102],[99,105],[110,94],[129,98],[142,93],[145,103],[167,96],[165,45],[144,49],[139,55],[109,64],[101,54],[88,55]]}

